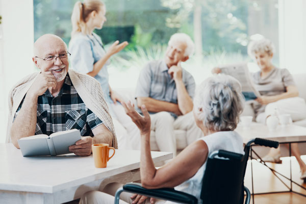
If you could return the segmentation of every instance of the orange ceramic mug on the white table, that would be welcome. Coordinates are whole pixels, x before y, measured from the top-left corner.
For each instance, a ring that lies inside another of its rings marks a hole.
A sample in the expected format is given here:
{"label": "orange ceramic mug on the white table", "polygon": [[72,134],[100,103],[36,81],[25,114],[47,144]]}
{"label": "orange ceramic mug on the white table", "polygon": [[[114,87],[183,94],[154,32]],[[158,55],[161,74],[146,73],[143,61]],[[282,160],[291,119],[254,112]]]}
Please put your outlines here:
{"label": "orange ceramic mug on the white table", "polygon": [[[115,155],[115,148],[109,147],[109,144],[91,145],[94,165],[96,168],[106,168],[107,162]],[[110,149],[113,149],[113,155],[109,157]]]}

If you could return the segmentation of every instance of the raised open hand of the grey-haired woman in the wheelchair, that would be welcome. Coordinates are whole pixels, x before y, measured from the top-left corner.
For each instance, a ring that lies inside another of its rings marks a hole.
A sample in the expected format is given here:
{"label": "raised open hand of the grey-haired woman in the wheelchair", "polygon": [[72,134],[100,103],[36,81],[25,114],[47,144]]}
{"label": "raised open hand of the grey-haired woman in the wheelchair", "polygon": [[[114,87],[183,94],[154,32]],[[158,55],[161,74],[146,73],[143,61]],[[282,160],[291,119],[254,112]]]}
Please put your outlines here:
{"label": "raised open hand of the grey-haired woman in the wheelchair", "polygon": [[131,104],[131,101],[126,104],[122,102],[125,113],[131,117],[132,121],[137,125],[140,130],[140,134],[144,135],[151,132],[151,118],[148,111],[145,108],[145,105],[141,106],[141,111],[143,116],[141,116],[137,111],[135,111],[134,104]]}

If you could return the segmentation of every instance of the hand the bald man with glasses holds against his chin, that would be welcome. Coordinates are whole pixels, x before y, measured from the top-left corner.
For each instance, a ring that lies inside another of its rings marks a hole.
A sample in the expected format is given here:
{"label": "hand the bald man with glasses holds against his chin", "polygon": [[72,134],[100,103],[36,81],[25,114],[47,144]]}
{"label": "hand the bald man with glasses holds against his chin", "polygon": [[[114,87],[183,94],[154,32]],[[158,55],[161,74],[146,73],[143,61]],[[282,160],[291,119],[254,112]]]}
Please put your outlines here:
{"label": "hand the bald man with glasses holds against his chin", "polygon": [[40,96],[42,95],[48,88],[56,88],[56,79],[52,72],[46,71],[38,74],[38,77],[33,82],[30,87],[28,94]]}

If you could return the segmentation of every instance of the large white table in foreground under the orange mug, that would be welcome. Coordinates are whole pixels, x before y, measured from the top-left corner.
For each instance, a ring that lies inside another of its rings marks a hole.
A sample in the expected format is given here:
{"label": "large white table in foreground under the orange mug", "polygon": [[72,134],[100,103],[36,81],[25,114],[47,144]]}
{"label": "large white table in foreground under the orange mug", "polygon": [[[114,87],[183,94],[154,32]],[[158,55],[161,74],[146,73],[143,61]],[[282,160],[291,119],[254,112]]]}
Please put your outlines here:
{"label": "large white table in foreground under the orange mug", "polygon": [[[151,152],[159,163],[170,152]],[[140,180],[140,151],[116,150],[107,168],[95,168],[92,155],[22,157],[11,143],[0,143],[0,203],[62,203],[112,182]]]}

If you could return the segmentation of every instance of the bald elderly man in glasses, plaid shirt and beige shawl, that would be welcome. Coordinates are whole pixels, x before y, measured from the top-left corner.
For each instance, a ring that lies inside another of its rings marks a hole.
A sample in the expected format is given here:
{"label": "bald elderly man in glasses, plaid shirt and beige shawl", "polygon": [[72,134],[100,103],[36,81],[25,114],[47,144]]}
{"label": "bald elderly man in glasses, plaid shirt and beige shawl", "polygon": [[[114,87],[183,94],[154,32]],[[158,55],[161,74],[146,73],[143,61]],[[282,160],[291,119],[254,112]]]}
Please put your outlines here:
{"label": "bald elderly man in glasses, plaid shirt and beige shawl", "polygon": [[88,156],[94,143],[117,148],[112,119],[99,83],[69,70],[67,45],[46,34],[34,43],[33,62],[39,72],[19,81],[10,93],[8,134],[18,139],[32,135],[80,130],[82,139],[69,147],[75,155]]}

